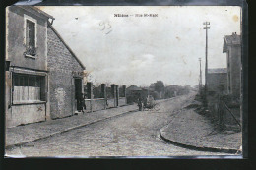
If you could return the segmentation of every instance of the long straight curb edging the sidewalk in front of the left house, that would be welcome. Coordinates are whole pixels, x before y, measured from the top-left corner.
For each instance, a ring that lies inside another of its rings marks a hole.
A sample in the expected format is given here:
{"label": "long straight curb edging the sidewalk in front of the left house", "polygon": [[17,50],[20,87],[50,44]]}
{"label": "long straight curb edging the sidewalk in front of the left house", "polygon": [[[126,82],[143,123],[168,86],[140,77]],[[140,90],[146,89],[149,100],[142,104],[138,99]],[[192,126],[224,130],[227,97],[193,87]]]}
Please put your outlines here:
{"label": "long straight curb edging the sidewalk in front of the left house", "polygon": [[125,115],[125,114],[128,114],[128,113],[135,113],[135,112],[138,112],[138,111],[139,111],[138,109],[130,110],[130,111],[123,112],[123,113],[118,114],[118,115],[115,115],[115,116],[110,116],[110,117],[106,117],[106,118],[103,118],[103,119],[98,119],[98,120],[96,120],[96,121],[93,121],[93,122],[90,122],[90,123],[87,123],[87,124],[82,124],[82,125],[78,125],[78,126],[75,126],[75,127],[71,127],[71,128],[64,129],[64,130],[59,131],[59,132],[51,133],[51,134],[49,134],[49,135],[46,135],[46,136],[44,136],[44,137],[40,137],[40,138],[31,140],[31,141],[19,142],[19,143],[15,143],[15,144],[6,145],[6,146],[5,146],[5,149],[11,149],[11,148],[13,148],[13,147],[21,146],[21,145],[27,144],[27,143],[29,143],[29,142],[36,142],[36,141],[39,141],[39,140],[47,139],[47,138],[56,136],[56,135],[58,135],[58,134],[62,134],[62,133],[69,132],[69,131],[71,131],[71,130],[75,130],[75,129],[79,129],[79,128],[82,128],[82,127],[87,127],[87,126],[96,124],[96,123],[98,123],[98,122],[100,122],[100,121],[108,120],[108,119],[111,119],[111,118],[117,118],[117,117],[123,116],[123,115]]}

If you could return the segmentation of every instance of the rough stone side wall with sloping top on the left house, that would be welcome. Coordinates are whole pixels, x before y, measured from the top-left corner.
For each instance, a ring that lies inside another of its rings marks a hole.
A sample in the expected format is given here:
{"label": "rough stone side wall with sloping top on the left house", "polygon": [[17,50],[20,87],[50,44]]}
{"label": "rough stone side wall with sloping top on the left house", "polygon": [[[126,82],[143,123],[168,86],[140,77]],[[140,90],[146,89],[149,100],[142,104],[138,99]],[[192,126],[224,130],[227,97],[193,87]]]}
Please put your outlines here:
{"label": "rough stone side wall with sloping top on the left house", "polygon": [[48,27],[48,70],[51,119],[74,114],[76,107],[73,72],[83,68],[69,52],[63,42]]}

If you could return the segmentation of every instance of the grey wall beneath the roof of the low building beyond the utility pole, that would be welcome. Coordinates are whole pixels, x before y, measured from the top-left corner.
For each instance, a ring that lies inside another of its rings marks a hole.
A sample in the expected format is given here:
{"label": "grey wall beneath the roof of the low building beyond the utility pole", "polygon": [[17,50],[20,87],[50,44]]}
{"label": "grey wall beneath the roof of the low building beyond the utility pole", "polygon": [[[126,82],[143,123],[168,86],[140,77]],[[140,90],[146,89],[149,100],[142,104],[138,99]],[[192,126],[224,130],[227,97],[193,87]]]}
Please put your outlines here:
{"label": "grey wall beneath the roof of the low building beyond the utility pole", "polygon": [[208,91],[226,92],[227,89],[227,74],[226,73],[211,73],[208,74]]}

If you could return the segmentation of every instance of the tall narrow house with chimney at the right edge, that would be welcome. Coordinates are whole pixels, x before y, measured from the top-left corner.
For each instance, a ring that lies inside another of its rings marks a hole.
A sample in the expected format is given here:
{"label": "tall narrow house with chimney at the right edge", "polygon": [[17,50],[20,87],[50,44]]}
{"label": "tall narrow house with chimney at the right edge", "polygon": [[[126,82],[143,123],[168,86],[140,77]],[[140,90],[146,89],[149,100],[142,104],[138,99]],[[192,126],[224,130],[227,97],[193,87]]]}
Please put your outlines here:
{"label": "tall narrow house with chimney at the right edge", "polygon": [[227,92],[239,97],[241,91],[241,37],[236,32],[224,36],[227,63]]}

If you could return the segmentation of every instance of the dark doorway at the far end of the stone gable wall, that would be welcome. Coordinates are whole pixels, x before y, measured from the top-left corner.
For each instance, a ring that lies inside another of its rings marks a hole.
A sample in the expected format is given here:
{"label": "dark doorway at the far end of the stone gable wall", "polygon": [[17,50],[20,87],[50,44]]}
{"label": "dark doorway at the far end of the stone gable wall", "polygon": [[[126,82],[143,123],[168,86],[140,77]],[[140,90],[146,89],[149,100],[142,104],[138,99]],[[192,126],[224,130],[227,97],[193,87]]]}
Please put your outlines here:
{"label": "dark doorway at the far end of the stone gable wall", "polygon": [[75,78],[75,100],[77,102],[77,110],[83,110],[83,93],[82,93],[82,79]]}

